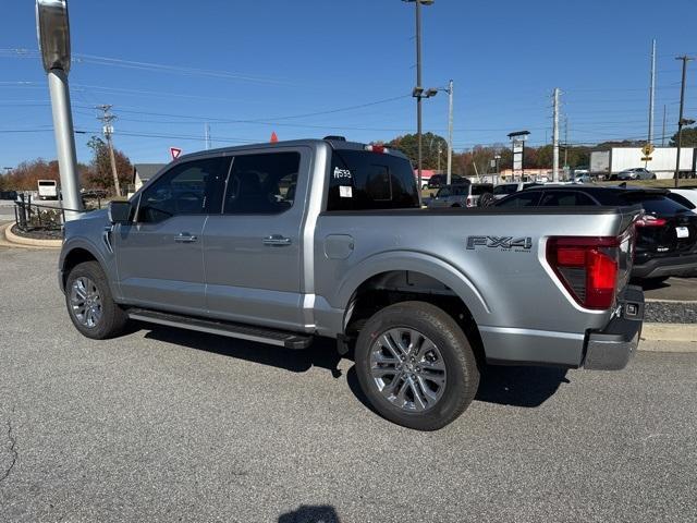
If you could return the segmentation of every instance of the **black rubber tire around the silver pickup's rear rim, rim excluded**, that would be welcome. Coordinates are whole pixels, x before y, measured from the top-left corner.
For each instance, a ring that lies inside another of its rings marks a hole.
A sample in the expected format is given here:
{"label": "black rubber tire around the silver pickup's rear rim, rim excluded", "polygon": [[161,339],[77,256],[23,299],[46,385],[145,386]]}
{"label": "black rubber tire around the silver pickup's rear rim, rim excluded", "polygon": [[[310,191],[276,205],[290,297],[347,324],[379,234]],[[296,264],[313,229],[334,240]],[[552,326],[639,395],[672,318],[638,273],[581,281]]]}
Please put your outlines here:
{"label": "black rubber tire around the silver pickup's rear rim, rim excluded", "polygon": [[[394,328],[418,331],[432,341],[442,356],[445,385],[440,399],[426,411],[408,412],[393,404],[371,375],[371,350],[383,333]],[[425,302],[390,305],[368,319],[356,342],[355,362],[360,389],[370,405],[384,418],[417,430],[438,430],[453,422],[472,403],[479,387],[479,369],[467,337],[450,315]]]}

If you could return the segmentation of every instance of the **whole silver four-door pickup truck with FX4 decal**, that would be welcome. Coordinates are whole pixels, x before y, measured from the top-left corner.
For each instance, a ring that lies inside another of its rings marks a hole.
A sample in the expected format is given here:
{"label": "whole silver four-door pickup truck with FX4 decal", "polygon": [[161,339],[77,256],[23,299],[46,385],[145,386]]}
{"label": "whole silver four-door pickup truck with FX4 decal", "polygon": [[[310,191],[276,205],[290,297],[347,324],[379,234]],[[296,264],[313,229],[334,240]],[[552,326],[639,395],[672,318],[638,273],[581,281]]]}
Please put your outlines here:
{"label": "whole silver four-door pickup truck with FX4 decal", "polygon": [[394,423],[455,419],[487,364],[623,368],[644,295],[641,209],[421,209],[401,153],[343,139],[201,151],[65,224],[59,281],[86,337],[129,319],[353,353]]}

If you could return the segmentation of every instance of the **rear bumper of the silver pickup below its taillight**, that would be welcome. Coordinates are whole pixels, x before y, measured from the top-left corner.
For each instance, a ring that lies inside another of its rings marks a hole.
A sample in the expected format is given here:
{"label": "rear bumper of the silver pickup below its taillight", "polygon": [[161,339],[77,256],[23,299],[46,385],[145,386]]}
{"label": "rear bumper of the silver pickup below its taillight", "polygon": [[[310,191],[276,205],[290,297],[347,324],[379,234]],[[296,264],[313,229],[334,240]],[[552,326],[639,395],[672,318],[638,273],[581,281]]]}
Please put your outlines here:
{"label": "rear bumper of the silver pickup below its taillight", "polygon": [[591,331],[586,342],[584,368],[621,370],[636,351],[644,319],[644,292],[629,285],[620,300],[621,312],[600,331]]}

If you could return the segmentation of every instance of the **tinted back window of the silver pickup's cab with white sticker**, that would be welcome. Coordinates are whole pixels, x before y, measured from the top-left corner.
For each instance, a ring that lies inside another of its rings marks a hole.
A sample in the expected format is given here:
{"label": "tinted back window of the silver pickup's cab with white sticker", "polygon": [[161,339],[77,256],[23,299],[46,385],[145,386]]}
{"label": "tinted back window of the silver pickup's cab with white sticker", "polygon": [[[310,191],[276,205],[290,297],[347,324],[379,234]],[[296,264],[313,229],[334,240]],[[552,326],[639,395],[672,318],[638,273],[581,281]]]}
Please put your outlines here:
{"label": "tinted back window of the silver pickup's cab with white sticker", "polygon": [[334,150],[327,210],[419,208],[406,158],[367,150]]}

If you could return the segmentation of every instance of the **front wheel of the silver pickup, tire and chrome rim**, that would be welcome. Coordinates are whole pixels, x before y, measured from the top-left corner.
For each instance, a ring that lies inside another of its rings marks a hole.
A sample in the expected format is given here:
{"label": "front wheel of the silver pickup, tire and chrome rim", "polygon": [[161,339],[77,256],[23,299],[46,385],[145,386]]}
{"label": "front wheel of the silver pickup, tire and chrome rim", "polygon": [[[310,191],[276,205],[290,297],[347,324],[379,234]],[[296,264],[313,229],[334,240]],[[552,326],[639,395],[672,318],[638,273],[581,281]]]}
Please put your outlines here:
{"label": "front wheel of the silver pickup, tire and chrome rim", "polygon": [[95,340],[120,335],[129,319],[113,301],[107,277],[97,262],[78,264],[70,271],[65,305],[75,328]]}

